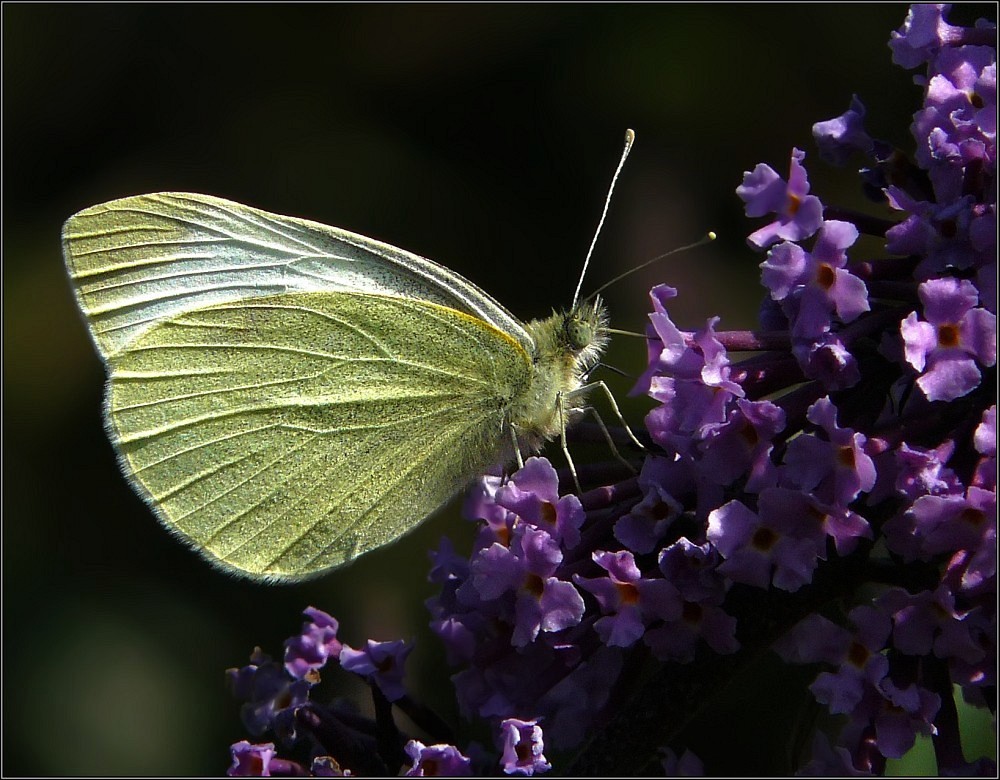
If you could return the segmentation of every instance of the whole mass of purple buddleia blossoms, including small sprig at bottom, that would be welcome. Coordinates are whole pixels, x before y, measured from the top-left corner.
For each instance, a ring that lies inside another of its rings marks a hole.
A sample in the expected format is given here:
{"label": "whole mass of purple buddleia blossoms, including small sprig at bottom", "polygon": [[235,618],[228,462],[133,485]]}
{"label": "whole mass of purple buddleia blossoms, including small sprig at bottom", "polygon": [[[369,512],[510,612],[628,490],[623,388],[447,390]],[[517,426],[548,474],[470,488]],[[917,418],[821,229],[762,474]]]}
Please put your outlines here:
{"label": "whole mass of purple buddleia blossoms, including small sprig at bottom", "polygon": [[[996,703],[996,31],[948,10],[913,6],[889,44],[921,69],[912,158],[857,97],[813,128],[824,160],[863,157],[883,217],[810,194],[794,149],[787,179],[761,164],[737,188],[771,219],[748,238],[760,329],[683,331],[678,291],[652,291],[638,476],[561,495],[530,458],[470,492],[470,555],[432,554],[431,626],[496,752],[466,757],[409,699],[408,646],[352,650],[308,610],[283,665],[230,672],[251,734],[305,752],[240,742],[231,774],[532,775],[545,751],[569,773],[700,773],[692,713],[762,651],[809,665],[836,724],[789,771],[880,774],[918,735],[939,773],[996,771],[963,753],[955,703]],[[326,664],[371,681],[374,722],[309,699]],[[441,743],[406,740],[393,705]]]}

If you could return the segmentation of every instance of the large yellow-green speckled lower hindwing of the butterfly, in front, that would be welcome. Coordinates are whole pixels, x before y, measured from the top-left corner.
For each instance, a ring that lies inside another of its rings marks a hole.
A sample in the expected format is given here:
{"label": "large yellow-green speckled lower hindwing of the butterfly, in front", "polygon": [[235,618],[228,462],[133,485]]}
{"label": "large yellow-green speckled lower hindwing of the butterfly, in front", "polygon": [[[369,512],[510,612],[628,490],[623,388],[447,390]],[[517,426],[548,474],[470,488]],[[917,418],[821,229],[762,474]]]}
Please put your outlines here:
{"label": "large yellow-green speckled lower hindwing of the butterfly, in front", "polygon": [[516,339],[426,301],[281,293],[157,321],[109,360],[109,434],[222,568],[297,580],[417,525],[506,445]]}

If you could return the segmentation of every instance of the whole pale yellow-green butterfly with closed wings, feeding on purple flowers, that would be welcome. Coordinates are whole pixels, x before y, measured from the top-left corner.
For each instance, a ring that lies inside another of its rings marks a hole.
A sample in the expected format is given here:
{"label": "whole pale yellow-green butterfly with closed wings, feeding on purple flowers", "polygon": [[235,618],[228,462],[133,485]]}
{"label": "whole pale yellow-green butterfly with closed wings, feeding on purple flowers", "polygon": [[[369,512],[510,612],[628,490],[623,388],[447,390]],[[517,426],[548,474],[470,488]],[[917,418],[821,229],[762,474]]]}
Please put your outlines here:
{"label": "whole pale yellow-green butterfly with closed wings, feeding on purple flowers", "polygon": [[123,473],[168,530],[252,579],[397,539],[563,435],[588,390],[610,398],[587,377],[599,298],[523,323],[442,265],[318,222],[137,195],[70,217],[63,251]]}

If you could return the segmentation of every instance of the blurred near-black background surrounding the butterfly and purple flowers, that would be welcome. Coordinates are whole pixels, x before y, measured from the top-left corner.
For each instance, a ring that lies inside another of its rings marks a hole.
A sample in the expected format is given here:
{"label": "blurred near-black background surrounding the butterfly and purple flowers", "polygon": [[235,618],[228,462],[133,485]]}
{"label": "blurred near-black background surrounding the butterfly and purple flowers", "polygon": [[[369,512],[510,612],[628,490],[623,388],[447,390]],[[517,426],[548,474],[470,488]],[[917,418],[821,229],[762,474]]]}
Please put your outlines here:
{"label": "blurred near-black background surrounding the butterfly and purple flowers", "polygon": [[[995,13],[958,6],[956,22]],[[715,230],[708,248],[610,290],[640,330],[754,323],[753,229],[733,190],[806,150],[856,92],[911,149],[920,90],[886,45],[904,5],[3,6],[3,726],[5,774],[217,774],[243,738],[223,670],[279,653],[307,605],[341,637],[418,639],[411,689],[454,715],[427,636],[426,550],[470,537],[459,502],[318,581],[226,577],[159,527],[101,423],[101,365],[59,231],[124,195],[192,190],[434,258],[524,318],[567,305],[627,127],[638,140],[589,284]],[[872,206],[873,210],[877,208]],[[610,362],[642,369],[640,342]],[[609,380],[619,398],[628,380]],[[649,406],[625,403],[639,424]],[[347,691],[360,695],[360,686]],[[361,697],[363,699],[363,697]],[[451,708],[451,709],[449,709]]]}

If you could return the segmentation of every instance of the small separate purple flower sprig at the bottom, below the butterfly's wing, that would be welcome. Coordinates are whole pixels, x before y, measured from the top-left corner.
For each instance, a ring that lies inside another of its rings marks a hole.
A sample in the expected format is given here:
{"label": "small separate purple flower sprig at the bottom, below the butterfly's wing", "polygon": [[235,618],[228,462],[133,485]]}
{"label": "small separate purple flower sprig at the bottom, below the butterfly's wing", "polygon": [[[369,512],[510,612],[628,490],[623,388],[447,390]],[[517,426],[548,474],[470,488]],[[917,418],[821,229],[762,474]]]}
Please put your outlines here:
{"label": "small separate purple flower sprig at the bottom, below the butterfly's wing", "polygon": [[[256,739],[272,739],[234,743],[230,776],[456,777],[474,770],[488,773],[498,764],[507,774],[530,775],[549,768],[535,720],[498,722],[494,756],[475,743],[469,746],[469,757],[444,739],[428,745],[404,737],[393,717],[394,706],[424,732],[450,736],[447,725],[406,693],[404,667],[413,645],[368,640],[356,650],[338,639],[336,619],[314,607],[306,609],[305,616],[302,630],[285,642],[283,663],[257,648],[247,666],[226,672],[230,690],[242,704],[244,727]],[[369,683],[374,720],[340,700],[314,700],[320,671],[326,674],[338,667]]]}

